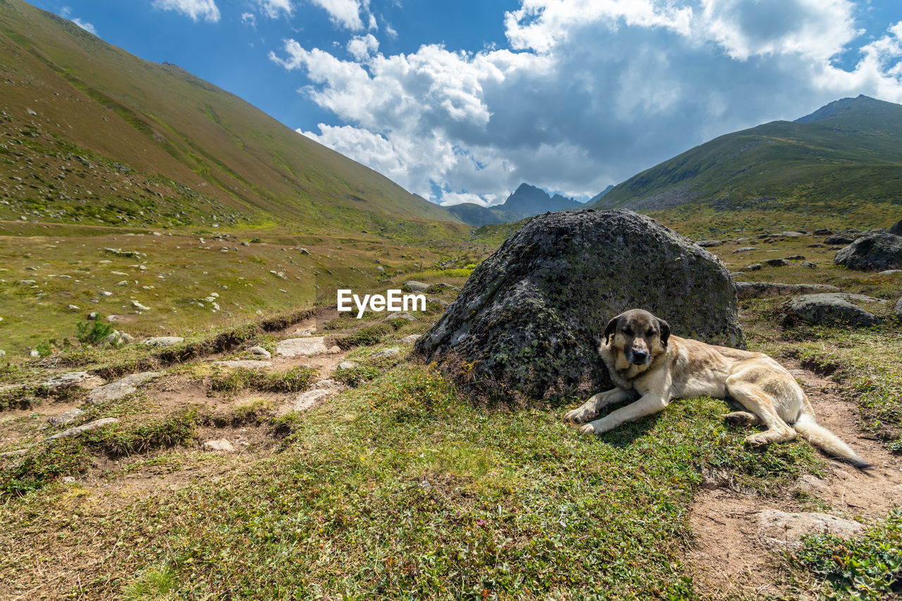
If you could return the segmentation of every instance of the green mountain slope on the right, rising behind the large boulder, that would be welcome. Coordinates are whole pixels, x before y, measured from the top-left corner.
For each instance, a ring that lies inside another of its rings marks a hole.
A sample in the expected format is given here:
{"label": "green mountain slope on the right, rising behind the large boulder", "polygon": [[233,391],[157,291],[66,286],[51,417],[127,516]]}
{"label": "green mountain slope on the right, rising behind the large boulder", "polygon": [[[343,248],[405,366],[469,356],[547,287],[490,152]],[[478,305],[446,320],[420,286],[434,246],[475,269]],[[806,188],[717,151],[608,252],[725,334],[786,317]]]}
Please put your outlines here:
{"label": "green mountain slope on the right, rising behind the large boulder", "polygon": [[648,212],[688,203],[718,214],[813,216],[902,204],[902,106],[842,98],[795,122],[722,135],[631,177],[592,207]]}

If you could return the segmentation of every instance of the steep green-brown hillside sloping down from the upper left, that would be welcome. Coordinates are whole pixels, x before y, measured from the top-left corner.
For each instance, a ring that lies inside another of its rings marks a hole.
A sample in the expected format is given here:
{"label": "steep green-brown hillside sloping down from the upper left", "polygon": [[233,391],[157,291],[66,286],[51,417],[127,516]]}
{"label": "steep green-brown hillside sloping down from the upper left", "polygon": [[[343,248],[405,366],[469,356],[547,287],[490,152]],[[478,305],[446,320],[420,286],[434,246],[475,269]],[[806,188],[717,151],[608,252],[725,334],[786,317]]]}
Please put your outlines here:
{"label": "steep green-brown hillside sloping down from the upper left", "polygon": [[[456,221],[175,65],[0,2],[0,219],[381,232]],[[443,226],[456,233],[462,227]]]}

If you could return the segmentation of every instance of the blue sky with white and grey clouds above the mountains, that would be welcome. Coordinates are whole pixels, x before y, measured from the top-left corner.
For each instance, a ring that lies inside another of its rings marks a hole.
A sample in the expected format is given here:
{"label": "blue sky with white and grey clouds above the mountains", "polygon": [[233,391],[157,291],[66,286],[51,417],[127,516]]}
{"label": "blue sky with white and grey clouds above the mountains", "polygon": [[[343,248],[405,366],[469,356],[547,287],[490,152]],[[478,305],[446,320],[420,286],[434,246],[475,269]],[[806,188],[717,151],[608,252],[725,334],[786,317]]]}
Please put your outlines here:
{"label": "blue sky with white and grey clouds above the mountains", "polygon": [[579,200],[841,97],[902,103],[898,0],[33,0],[440,204]]}

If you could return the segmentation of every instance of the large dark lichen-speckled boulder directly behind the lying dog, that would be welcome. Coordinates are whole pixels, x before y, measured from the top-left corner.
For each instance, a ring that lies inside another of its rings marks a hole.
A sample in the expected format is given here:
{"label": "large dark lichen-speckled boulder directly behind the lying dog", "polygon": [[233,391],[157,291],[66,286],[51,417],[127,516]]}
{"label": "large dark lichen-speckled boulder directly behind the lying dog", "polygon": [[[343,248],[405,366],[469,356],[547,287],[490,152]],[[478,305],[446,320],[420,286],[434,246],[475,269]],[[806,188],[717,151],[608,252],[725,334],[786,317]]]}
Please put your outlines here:
{"label": "large dark lichen-speckled boulder directly behind the lying dog", "polygon": [[594,392],[611,383],[597,352],[604,327],[633,308],[678,336],[745,346],[723,263],[616,209],[533,218],[476,267],[416,349],[496,398]]}

